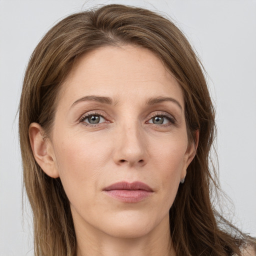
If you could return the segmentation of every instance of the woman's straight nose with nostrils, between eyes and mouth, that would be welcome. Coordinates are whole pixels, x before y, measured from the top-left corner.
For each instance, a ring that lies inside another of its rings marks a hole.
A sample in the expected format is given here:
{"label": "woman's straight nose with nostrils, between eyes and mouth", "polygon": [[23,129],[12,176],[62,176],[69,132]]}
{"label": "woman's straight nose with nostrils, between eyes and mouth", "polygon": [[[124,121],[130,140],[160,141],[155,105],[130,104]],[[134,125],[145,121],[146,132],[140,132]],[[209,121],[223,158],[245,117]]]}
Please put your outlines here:
{"label": "woman's straight nose with nostrils, between eyes and mouth", "polygon": [[118,165],[143,166],[148,160],[146,137],[139,124],[119,127],[113,160]]}

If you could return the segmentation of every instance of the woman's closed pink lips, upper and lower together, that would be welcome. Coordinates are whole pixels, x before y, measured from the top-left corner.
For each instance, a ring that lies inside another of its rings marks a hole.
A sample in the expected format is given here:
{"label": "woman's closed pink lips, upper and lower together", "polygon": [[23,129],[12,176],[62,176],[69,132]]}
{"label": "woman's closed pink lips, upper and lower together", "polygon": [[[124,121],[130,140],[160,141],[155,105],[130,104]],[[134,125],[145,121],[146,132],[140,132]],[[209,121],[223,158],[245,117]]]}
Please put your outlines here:
{"label": "woman's closed pink lips, upper and lower together", "polygon": [[147,184],[135,181],[117,182],[107,186],[103,191],[110,197],[118,199],[123,202],[138,202],[152,194],[153,190]]}

